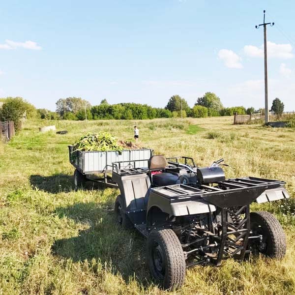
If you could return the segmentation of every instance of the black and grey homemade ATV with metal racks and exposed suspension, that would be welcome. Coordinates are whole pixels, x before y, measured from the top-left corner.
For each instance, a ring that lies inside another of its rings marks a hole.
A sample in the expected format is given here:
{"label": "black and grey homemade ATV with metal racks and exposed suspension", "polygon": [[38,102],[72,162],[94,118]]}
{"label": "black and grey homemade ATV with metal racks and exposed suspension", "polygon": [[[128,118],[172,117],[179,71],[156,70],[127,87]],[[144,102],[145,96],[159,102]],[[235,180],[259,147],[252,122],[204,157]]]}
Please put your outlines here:
{"label": "black and grey homemade ATV with metal racks and exposed suspension", "polygon": [[243,260],[250,253],[282,259],[286,253],[278,220],[249,208],[289,198],[285,182],[226,179],[222,162],[199,168],[188,157],[152,156],[147,168],[116,169],[114,163],[118,223],[147,237],[149,271],[164,289],[179,288],[186,267],[219,266],[224,258]]}

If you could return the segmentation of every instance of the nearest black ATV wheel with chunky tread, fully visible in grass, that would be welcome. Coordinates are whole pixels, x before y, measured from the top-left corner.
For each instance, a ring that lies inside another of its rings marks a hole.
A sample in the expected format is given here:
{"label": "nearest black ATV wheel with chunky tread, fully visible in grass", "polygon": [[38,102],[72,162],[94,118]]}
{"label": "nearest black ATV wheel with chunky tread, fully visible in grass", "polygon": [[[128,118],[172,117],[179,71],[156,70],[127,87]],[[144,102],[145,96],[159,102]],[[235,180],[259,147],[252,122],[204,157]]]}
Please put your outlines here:
{"label": "nearest black ATV wheel with chunky tread, fully visible in grass", "polygon": [[150,274],[165,290],[177,289],[183,285],[185,259],[173,230],[150,232],[147,240],[147,263]]}

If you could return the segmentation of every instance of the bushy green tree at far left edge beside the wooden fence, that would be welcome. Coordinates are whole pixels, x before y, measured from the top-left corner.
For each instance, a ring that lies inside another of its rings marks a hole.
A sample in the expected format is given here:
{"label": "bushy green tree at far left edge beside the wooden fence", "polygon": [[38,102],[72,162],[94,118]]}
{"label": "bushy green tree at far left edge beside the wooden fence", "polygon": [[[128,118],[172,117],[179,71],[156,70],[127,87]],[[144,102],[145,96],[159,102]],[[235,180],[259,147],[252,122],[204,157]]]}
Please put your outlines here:
{"label": "bushy green tree at far left edge beside the wooden fence", "polygon": [[4,103],[0,110],[0,120],[14,121],[16,130],[20,128],[21,120],[26,112],[29,118],[32,118],[33,114],[37,113],[35,107],[22,97],[7,97],[3,101]]}

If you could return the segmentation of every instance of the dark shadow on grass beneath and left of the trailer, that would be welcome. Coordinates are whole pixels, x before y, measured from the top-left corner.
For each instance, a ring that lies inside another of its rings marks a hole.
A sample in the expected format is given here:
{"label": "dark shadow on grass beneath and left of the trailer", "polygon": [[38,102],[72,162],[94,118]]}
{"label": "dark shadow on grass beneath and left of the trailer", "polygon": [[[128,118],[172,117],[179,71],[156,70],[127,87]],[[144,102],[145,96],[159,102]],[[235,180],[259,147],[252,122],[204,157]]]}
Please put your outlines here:
{"label": "dark shadow on grass beneath and left of the trailer", "polygon": [[[29,181],[33,187],[53,194],[75,190],[74,176],[67,174],[54,174],[51,176],[31,175]],[[101,188],[97,183],[87,181],[84,189],[92,190]]]}

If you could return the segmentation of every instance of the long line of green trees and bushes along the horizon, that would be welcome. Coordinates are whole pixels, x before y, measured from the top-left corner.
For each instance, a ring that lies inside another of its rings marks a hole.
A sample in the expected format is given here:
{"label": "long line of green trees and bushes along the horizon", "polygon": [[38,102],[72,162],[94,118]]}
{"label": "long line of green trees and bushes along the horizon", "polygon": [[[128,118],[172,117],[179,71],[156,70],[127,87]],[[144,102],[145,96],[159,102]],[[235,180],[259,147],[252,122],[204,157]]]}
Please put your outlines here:
{"label": "long line of green trees and bushes along the horizon", "polygon": [[[284,104],[275,98],[271,111],[282,114]],[[22,97],[0,98],[0,120],[19,122],[24,114],[27,118],[41,119],[153,119],[153,118],[206,118],[215,116],[233,116],[263,113],[264,109],[255,110],[253,107],[243,106],[225,108],[220,98],[213,92],[206,92],[199,97],[191,108],[187,101],[179,95],[173,95],[165,108],[154,108],[147,104],[118,103],[109,104],[103,99],[99,105],[91,104],[81,97],[60,98],[56,102],[56,112],[47,109],[36,109]]]}

